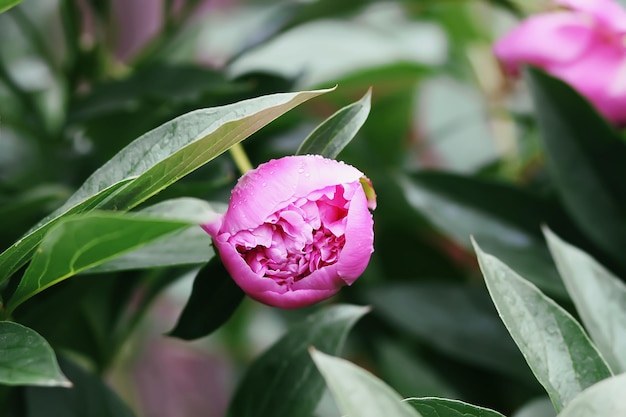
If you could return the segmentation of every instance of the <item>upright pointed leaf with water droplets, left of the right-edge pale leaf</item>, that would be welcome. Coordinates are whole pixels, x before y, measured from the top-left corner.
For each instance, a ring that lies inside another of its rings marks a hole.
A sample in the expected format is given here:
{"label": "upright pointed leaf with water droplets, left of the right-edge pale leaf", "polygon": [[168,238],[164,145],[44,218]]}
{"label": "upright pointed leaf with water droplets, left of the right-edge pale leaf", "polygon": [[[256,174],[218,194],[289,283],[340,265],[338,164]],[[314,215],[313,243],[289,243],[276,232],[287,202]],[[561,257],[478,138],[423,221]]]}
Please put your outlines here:
{"label": "upright pointed leaf with water droplets, left of the right-edge pale leaf", "polygon": [[583,389],[611,376],[596,347],[567,311],[476,243],[474,247],[500,318],[557,411]]}

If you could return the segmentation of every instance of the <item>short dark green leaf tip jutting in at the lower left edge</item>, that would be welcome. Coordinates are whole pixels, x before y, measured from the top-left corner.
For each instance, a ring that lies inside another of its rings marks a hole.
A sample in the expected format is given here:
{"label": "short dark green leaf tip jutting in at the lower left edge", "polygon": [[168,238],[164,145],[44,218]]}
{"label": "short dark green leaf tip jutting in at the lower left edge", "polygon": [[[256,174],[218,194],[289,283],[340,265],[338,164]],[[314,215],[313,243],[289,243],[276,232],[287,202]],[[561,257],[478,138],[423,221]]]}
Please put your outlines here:
{"label": "short dark green leaf tip jutting in at the lower left edge", "polygon": [[48,342],[34,330],[10,321],[0,322],[0,384],[72,386]]}

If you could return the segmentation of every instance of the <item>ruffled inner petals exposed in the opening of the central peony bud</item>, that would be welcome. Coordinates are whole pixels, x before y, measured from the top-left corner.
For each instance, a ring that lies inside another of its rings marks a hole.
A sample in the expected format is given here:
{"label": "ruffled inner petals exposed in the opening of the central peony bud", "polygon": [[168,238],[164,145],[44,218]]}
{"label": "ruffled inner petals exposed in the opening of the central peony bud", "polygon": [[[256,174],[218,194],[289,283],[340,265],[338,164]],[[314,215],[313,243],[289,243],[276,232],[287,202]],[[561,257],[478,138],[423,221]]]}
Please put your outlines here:
{"label": "ruffled inner petals exposed in the opening of the central peony bud", "polygon": [[350,205],[343,194],[337,185],[295,199],[229,242],[256,274],[291,286],[338,261]]}

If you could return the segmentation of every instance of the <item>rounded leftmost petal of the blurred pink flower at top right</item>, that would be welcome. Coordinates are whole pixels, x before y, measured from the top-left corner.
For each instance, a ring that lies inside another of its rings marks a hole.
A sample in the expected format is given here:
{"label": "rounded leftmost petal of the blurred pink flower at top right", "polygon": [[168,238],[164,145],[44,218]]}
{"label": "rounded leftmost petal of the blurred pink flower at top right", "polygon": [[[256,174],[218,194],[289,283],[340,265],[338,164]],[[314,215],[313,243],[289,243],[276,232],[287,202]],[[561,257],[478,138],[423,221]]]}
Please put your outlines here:
{"label": "rounded leftmost petal of the blurred pink flower at top right", "polygon": [[515,73],[521,64],[545,68],[575,60],[592,39],[591,22],[584,15],[554,12],[523,21],[496,42],[494,53]]}

